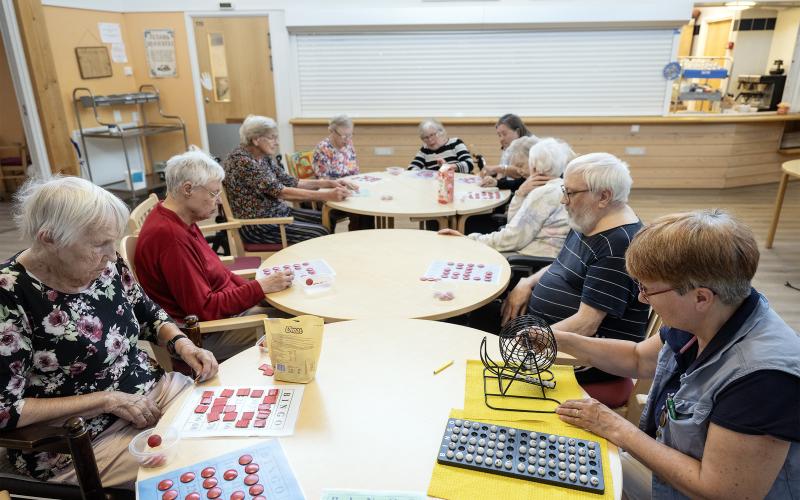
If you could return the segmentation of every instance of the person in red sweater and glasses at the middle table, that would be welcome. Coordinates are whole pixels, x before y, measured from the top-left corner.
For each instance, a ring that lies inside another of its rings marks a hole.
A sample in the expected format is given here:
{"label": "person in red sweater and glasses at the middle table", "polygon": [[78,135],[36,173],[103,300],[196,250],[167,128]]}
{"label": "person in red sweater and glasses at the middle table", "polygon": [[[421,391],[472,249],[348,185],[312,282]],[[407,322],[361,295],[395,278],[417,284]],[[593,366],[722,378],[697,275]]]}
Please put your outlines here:
{"label": "person in red sweater and glasses at the middle table", "polygon": [[[153,208],[136,242],[136,276],[145,292],[178,321],[266,312],[264,294],[291,284],[291,271],[247,281],[233,274],[206,243],[197,223],[212,217],[225,171],[200,150],[167,162],[167,197]],[[263,329],[206,335],[203,347],[218,360],[251,347]]]}

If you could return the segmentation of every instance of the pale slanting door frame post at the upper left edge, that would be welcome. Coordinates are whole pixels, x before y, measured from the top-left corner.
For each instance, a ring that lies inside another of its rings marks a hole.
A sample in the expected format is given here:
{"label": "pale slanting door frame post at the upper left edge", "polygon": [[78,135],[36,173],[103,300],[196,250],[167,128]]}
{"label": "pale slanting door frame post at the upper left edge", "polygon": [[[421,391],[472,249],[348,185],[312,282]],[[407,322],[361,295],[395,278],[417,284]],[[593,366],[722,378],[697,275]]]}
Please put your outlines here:
{"label": "pale slanting door frame post at the upper left edge", "polygon": [[39,107],[36,105],[36,93],[28,72],[28,61],[25,58],[16,12],[13,0],[0,0],[0,28],[2,28],[0,31],[14,85],[19,117],[25,133],[25,142],[37,175],[42,179],[49,179],[52,176],[50,159],[47,156],[42,123],[39,120]]}

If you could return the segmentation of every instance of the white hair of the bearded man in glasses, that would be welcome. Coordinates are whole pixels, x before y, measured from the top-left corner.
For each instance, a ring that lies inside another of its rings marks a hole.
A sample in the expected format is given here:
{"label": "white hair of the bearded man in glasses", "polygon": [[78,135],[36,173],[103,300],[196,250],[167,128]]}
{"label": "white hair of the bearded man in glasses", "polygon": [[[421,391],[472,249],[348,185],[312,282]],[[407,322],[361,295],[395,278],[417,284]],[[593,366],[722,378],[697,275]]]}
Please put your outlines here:
{"label": "white hair of the bearded man in glasses", "polygon": [[564,171],[564,175],[580,174],[593,193],[611,191],[611,200],[627,203],[631,193],[631,178],[628,164],[609,153],[590,153],[575,158]]}

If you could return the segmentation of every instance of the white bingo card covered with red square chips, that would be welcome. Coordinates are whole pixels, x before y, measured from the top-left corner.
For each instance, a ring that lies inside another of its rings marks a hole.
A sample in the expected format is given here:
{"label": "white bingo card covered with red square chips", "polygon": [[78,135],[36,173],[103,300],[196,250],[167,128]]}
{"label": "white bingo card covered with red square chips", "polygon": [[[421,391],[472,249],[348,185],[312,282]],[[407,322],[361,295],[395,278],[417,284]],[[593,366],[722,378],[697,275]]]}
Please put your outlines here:
{"label": "white bingo card covered with red square chips", "polygon": [[184,438],[289,436],[303,386],[195,387],[176,426]]}

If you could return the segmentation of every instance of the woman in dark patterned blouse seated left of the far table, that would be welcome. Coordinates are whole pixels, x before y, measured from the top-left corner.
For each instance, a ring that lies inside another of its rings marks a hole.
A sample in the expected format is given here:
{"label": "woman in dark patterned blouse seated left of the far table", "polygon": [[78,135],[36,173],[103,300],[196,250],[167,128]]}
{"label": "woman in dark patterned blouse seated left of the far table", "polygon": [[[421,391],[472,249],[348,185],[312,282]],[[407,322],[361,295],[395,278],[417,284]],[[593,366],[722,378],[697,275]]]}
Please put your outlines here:
{"label": "woman in dark patterned blouse seated left of the far table", "polygon": [[[295,179],[275,161],[278,125],[272,118],[250,115],[239,128],[239,147],[223,163],[225,192],[239,219],[294,217],[286,225],[286,239],[297,243],[329,234],[318,210],[292,208],[287,201],[342,201],[358,187],[344,180]],[[320,191],[320,188],[330,188]],[[280,243],[277,225],[246,226],[240,230],[248,243]]]}

